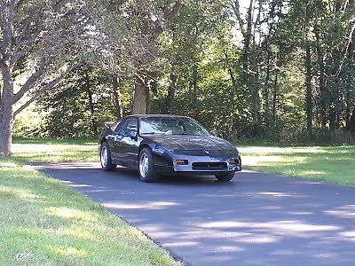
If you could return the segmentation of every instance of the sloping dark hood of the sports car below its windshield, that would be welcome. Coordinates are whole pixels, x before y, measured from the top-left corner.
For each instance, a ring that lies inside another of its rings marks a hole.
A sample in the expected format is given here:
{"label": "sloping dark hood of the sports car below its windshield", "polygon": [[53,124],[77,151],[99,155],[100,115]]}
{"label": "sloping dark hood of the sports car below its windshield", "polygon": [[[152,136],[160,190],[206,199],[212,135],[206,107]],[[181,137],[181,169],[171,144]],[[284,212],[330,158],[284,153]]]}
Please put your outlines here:
{"label": "sloping dark hood of the sports car below its windshield", "polygon": [[170,151],[229,150],[238,153],[236,148],[228,141],[214,136],[154,135],[149,136],[148,138]]}

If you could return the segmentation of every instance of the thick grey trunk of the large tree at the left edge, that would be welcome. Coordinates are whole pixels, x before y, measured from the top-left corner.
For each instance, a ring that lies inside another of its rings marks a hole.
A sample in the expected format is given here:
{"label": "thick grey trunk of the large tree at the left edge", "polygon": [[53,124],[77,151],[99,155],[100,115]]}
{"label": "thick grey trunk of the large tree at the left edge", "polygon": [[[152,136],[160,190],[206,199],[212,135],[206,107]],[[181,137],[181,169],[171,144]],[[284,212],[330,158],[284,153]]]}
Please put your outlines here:
{"label": "thick grey trunk of the large tree at the left edge", "polygon": [[13,79],[11,68],[4,62],[0,64],[4,84],[0,106],[0,156],[10,156],[13,126]]}

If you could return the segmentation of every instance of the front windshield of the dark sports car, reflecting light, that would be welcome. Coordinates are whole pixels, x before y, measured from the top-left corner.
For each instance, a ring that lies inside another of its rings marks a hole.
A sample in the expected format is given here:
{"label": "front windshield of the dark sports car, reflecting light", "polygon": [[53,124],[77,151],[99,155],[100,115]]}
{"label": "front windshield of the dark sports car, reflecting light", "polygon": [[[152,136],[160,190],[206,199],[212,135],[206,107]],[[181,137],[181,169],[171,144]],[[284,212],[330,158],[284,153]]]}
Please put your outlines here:
{"label": "front windshield of the dark sports car, reflecting light", "polygon": [[209,135],[200,124],[184,117],[147,117],[140,120],[140,134]]}

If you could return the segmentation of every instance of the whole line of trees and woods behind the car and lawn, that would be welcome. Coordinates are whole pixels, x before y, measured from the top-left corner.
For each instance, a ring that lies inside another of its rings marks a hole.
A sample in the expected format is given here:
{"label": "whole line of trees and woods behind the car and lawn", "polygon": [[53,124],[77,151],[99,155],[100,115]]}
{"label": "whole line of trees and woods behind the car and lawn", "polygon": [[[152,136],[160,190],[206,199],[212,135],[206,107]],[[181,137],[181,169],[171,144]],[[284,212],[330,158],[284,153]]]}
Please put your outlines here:
{"label": "whole line of trees and woods behind the car and lawn", "polygon": [[33,131],[55,137],[130,113],[190,115],[232,140],[355,131],[354,0],[7,0],[0,29],[3,155],[34,102]]}

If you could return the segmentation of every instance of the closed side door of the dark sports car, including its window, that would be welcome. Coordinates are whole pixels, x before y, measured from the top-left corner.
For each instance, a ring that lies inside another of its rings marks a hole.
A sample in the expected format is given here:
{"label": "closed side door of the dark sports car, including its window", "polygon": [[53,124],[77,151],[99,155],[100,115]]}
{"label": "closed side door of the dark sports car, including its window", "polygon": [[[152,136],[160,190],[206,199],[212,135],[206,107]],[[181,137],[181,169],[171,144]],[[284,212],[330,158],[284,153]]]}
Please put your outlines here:
{"label": "closed side door of the dark sports car, including its window", "polygon": [[137,163],[138,118],[130,117],[124,122],[116,139],[114,153],[123,166],[134,166]]}

